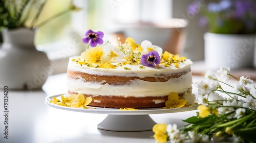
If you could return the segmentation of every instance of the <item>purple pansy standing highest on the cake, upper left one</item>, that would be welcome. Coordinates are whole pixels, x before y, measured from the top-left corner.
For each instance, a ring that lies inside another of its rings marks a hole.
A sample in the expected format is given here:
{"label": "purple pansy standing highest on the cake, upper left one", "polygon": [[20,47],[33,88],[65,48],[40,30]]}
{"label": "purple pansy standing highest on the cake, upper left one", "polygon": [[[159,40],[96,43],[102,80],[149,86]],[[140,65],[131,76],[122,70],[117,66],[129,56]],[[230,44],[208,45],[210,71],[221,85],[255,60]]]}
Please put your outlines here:
{"label": "purple pansy standing highest on the cake, upper left one", "polygon": [[103,40],[102,40],[103,36],[104,36],[103,32],[101,32],[101,31],[94,32],[90,29],[86,32],[86,38],[83,38],[82,41],[84,43],[89,43],[89,41],[90,41],[91,47],[94,47],[97,44],[103,43]]}

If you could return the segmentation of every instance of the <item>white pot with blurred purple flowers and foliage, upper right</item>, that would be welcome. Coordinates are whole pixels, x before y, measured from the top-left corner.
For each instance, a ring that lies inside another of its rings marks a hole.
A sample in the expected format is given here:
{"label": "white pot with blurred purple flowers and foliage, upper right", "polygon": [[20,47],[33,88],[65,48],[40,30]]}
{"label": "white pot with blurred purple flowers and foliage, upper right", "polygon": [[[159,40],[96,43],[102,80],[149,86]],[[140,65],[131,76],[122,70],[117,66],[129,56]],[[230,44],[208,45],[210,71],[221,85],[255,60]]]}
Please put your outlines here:
{"label": "white pot with blurred purple flowers and foliage, upper right", "polygon": [[256,2],[253,0],[199,1],[188,10],[200,8],[204,35],[205,63],[211,69],[220,66],[238,69],[252,67],[256,34]]}

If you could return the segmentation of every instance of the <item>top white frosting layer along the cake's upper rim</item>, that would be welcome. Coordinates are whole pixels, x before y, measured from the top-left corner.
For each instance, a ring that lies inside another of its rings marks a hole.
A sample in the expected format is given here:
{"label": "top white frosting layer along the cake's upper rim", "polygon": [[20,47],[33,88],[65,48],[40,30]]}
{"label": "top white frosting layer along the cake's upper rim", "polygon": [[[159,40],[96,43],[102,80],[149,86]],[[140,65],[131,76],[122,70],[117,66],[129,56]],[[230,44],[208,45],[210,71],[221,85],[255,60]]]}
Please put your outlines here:
{"label": "top white frosting layer along the cake's upper rim", "polygon": [[[87,65],[77,64],[72,59],[78,58],[78,56],[71,57],[69,60],[68,68],[72,71],[80,71],[82,73],[87,73],[90,75],[100,75],[100,76],[125,76],[125,77],[155,77],[159,75],[170,75],[175,73],[180,73],[182,71],[190,70],[190,65],[193,63],[191,60],[187,59],[184,63],[179,63],[179,68],[175,66],[164,67],[160,65],[160,68],[157,67],[146,67],[139,68],[140,65],[123,65],[116,68],[95,68],[87,67]],[[113,63],[117,64],[117,63]],[[130,70],[124,69],[124,67],[131,68]]]}

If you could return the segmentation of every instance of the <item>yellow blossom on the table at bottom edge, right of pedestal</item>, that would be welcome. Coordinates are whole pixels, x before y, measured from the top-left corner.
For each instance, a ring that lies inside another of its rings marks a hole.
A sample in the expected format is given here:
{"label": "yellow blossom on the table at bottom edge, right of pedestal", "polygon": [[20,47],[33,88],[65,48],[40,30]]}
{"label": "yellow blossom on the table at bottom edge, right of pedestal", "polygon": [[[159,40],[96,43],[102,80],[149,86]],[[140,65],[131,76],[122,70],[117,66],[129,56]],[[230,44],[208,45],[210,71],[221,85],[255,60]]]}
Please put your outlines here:
{"label": "yellow blossom on the table at bottom edge, right of pedestal", "polygon": [[168,135],[166,134],[166,124],[156,124],[153,127],[154,138],[157,140],[158,143],[166,142]]}

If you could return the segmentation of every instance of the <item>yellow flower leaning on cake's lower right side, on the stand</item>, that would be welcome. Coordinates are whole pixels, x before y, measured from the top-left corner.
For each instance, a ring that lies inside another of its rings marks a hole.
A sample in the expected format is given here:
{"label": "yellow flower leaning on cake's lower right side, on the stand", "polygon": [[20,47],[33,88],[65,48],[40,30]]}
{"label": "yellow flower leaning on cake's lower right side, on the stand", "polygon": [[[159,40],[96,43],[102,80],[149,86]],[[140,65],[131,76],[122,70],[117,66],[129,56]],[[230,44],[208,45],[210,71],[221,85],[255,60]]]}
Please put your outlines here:
{"label": "yellow flower leaning on cake's lower right side, on the stand", "polygon": [[170,92],[168,96],[168,100],[165,102],[165,106],[167,109],[169,108],[181,108],[183,107],[187,101],[185,99],[179,99],[179,95],[176,92]]}

